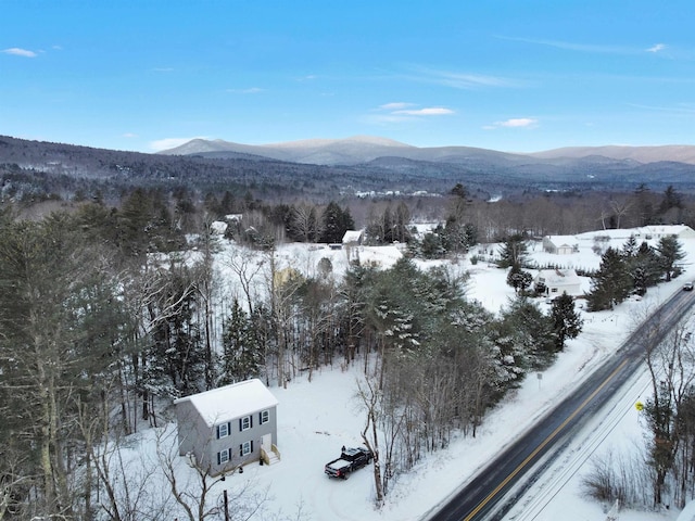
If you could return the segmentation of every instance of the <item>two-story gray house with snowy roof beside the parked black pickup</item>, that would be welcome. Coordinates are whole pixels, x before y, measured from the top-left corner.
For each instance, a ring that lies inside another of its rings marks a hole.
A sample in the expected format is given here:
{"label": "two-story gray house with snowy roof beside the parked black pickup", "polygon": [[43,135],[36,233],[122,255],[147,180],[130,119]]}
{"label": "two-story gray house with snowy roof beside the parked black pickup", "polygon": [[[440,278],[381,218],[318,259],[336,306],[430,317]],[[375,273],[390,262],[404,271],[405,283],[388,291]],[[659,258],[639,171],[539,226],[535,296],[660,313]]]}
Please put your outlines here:
{"label": "two-story gray house with snowy roof beside the parked black pickup", "polygon": [[258,379],[174,401],[181,456],[211,475],[263,458],[279,459],[278,401]]}

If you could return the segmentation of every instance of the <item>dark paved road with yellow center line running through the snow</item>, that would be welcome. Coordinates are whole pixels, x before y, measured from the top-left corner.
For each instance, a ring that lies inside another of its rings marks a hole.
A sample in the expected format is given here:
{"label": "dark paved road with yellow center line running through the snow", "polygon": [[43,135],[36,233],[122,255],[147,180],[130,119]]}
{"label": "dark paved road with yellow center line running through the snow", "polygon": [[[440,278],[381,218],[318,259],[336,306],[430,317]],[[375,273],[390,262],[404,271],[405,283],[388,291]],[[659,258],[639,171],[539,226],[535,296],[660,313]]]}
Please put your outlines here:
{"label": "dark paved road with yellow center line running through the snow", "polygon": [[[536,425],[521,435],[479,472],[429,521],[482,521],[502,519],[511,507],[511,488],[518,495],[542,471],[547,459],[569,436],[614,396],[644,363],[647,343],[655,345],[695,304],[693,292],[679,291],[645,320],[587,380]],[[543,463],[543,465],[541,465]]]}

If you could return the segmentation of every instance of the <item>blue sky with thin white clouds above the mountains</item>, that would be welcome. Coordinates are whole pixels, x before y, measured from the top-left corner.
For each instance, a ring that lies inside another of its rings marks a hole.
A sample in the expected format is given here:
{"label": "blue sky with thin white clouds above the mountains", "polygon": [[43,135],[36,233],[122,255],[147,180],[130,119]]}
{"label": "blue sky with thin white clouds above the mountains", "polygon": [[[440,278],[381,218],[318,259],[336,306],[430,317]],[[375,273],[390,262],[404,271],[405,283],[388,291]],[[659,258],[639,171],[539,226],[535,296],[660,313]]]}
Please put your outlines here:
{"label": "blue sky with thin white clouds above the mountains", "polygon": [[695,2],[0,0],[0,135],[695,144]]}

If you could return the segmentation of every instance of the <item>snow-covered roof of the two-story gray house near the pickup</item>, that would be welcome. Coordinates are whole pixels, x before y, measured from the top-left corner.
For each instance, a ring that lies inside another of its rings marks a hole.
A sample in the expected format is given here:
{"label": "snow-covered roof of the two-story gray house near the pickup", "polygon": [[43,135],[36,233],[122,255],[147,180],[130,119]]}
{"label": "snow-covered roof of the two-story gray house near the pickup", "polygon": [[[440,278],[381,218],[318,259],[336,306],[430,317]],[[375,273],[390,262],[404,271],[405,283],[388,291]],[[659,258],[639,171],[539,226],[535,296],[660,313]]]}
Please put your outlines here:
{"label": "snow-covered roof of the two-story gray house near the pickup", "polygon": [[174,404],[182,402],[190,402],[210,427],[278,405],[257,378],[178,398]]}

